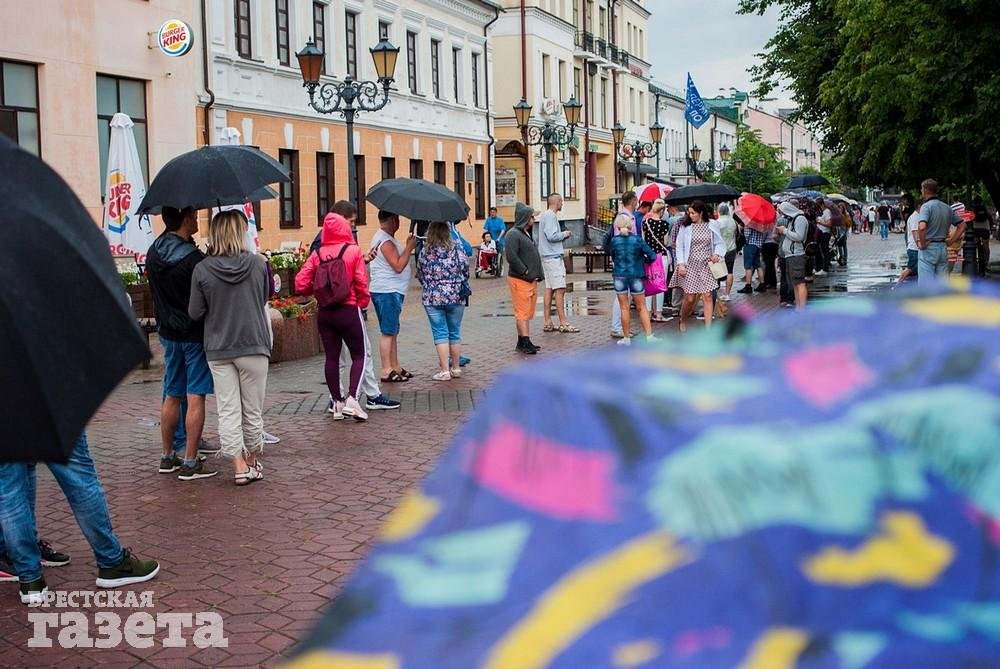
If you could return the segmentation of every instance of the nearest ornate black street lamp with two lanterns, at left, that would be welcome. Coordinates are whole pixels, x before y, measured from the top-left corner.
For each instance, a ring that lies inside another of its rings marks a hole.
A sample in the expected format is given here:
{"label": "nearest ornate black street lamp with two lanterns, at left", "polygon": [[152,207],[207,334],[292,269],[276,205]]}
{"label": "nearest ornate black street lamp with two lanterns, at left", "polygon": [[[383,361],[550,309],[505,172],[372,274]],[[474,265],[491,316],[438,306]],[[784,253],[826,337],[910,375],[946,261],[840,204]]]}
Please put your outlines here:
{"label": "nearest ornate black street lamp with two lanterns, at left", "polygon": [[[399,47],[383,39],[368,50],[375,61],[377,81],[357,81],[348,74],[341,82],[319,83],[323,69],[323,50],[309,40],[295,54],[302,72],[302,85],[309,91],[309,106],[320,114],[340,113],[347,124],[347,192],[358,203],[357,174],[354,164],[354,117],[358,112],[374,112],[389,104],[389,87],[395,79]],[[317,95],[318,93],[318,95]],[[318,98],[318,99],[317,99]]]}

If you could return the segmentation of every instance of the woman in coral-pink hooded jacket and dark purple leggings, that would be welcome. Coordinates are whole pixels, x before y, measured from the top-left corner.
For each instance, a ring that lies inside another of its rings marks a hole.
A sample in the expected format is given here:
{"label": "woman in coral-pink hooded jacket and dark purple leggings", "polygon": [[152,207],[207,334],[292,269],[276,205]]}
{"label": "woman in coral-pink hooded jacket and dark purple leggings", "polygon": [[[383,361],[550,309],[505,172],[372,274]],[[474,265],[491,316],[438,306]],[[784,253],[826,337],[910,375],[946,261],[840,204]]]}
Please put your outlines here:
{"label": "woman in coral-pink hooded jacket and dark purple leggings", "polygon": [[[368,337],[365,335],[361,310],[371,303],[368,291],[368,272],[361,249],[354,241],[351,224],[340,214],[330,212],[323,219],[320,247],[309,255],[302,269],[295,275],[295,290],[299,295],[313,294],[313,281],[317,271],[326,271],[324,263],[340,259],[350,285],[346,297],[335,304],[320,305],[316,315],[319,336],[326,353],[326,385],[333,401],[329,412],[334,419],[350,416],[357,421],[368,420],[358,396],[365,371]],[[347,395],[340,388],[340,350],[346,345],[351,352],[351,375]]]}

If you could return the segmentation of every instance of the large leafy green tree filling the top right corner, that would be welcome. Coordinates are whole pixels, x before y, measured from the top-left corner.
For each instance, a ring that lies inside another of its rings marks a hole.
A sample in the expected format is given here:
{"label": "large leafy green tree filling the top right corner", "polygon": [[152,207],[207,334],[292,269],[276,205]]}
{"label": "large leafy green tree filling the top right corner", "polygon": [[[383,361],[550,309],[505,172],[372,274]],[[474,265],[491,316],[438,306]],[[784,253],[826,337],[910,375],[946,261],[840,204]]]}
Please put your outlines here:
{"label": "large leafy green tree filling the top right corner", "polygon": [[741,0],[782,10],[754,68],[758,94],[778,82],[841,155],[841,176],[914,189],[972,172],[1000,204],[996,0]]}

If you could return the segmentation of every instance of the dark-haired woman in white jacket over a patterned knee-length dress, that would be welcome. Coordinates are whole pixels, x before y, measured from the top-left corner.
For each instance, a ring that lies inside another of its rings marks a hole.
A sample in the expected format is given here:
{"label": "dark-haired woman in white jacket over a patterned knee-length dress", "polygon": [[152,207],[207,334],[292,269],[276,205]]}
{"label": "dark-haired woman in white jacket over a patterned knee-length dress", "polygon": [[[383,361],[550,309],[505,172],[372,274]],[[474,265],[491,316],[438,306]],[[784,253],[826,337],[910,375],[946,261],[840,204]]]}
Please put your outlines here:
{"label": "dark-haired woman in white jacket over a patterned knee-length dress", "polygon": [[708,207],[701,200],[688,205],[687,216],[681,220],[681,226],[677,234],[677,274],[684,289],[680,330],[685,332],[687,326],[684,319],[694,312],[699,296],[705,308],[705,327],[712,327],[715,308],[712,291],[718,289],[719,281],[708,265],[719,262],[726,255],[726,243],[718,223],[711,220]]}

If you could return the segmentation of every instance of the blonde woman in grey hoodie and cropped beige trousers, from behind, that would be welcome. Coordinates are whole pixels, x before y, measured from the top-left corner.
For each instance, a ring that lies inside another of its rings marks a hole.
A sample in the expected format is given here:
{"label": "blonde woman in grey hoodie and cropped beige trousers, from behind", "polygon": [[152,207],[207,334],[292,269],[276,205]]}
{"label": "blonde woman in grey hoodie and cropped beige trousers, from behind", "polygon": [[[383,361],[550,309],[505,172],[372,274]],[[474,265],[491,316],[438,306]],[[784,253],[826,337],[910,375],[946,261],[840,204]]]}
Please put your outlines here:
{"label": "blonde woman in grey hoodie and cropped beige trousers, from behind", "polygon": [[271,330],[267,261],[246,248],[247,219],[223,211],[208,224],[208,255],[191,276],[188,315],[205,319],[205,358],[215,383],[221,455],[236,485],[264,478],[264,394]]}

